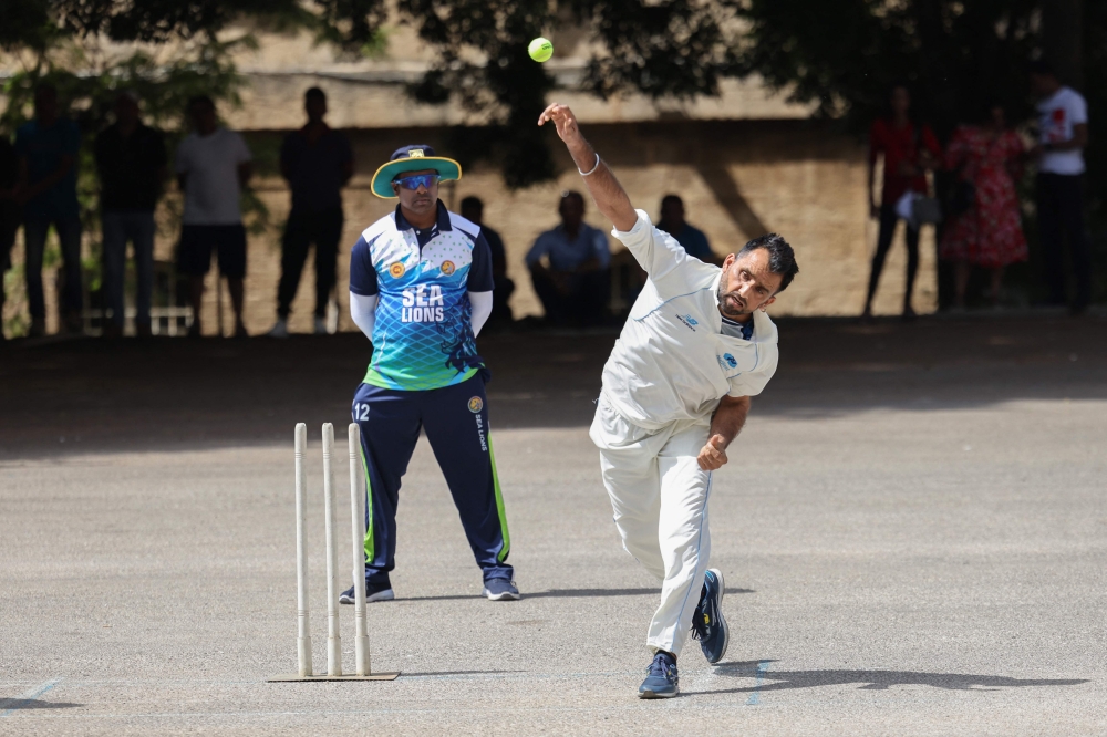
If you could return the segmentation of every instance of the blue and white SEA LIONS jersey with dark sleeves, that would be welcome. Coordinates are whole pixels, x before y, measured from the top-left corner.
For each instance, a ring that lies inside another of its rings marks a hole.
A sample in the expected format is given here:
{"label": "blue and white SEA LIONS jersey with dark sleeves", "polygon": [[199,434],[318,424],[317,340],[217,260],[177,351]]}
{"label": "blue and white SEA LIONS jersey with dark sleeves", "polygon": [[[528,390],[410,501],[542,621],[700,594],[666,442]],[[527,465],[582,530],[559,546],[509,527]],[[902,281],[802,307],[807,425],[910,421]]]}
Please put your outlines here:
{"label": "blue and white SEA LIONS jersey with dark sleeves", "polygon": [[420,230],[396,207],[350,252],[350,291],[377,297],[366,384],[424,391],[459,384],[484,367],[468,292],[493,288],[492,249],[480,227],[438,200]]}

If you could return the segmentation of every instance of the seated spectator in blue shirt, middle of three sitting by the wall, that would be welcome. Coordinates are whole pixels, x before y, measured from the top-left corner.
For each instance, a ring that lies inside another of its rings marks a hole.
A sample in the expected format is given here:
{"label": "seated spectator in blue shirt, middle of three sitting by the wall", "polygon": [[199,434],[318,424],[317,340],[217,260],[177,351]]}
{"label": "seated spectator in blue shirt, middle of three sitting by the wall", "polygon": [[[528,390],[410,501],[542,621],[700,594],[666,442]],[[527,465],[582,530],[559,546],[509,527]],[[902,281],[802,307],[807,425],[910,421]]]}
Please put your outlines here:
{"label": "seated spectator in blue shirt, middle of three sitting by the wall", "polygon": [[535,292],[550,323],[599,324],[611,291],[608,237],[584,222],[584,198],[579,191],[561,194],[558,214],[561,225],[538,236],[527,253]]}

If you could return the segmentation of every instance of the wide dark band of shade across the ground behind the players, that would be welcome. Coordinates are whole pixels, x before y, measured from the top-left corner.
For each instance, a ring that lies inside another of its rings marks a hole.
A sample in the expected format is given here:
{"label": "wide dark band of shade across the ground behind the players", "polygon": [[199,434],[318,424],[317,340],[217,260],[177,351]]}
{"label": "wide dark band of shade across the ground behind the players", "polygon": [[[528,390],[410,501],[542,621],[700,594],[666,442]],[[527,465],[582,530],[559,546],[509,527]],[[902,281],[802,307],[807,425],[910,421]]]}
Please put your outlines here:
{"label": "wide dark band of shade across the ground behind the players", "polygon": [[[755,399],[759,414],[1107,398],[1098,318],[780,320],[779,329],[780,369]],[[483,335],[494,428],[586,427],[615,338]],[[315,437],[324,422],[349,422],[369,359],[368,341],[352,333],[13,341],[0,346],[0,460],[290,443],[297,422]]]}

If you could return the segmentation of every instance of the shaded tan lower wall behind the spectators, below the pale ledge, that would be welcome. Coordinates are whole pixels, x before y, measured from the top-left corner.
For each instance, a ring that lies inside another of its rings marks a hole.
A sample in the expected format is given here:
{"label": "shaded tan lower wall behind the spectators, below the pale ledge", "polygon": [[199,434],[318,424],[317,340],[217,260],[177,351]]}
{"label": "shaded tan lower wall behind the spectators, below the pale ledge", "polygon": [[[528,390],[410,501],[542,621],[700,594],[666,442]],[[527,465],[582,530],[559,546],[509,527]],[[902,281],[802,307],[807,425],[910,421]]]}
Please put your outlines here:
{"label": "shaded tan lower wall behind the spectators, below the pale ledge", "polygon": [[[656,218],[661,197],[681,195],[689,220],[703,229],[716,252],[739,248],[766,231],[784,235],[796,249],[800,276],[773,305],[776,314],[852,315],[860,312],[868,279],[868,261],[876,241],[876,224],[867,217],[865,150],[855,139],[825,125],[803,121],[672,121],[593,124],[586,134],[613,167],[632,201]],[[369,190],[376,167],[395,148],[408,143],[428,143],[448,155],[445,128],[387,128],[349,131],[356,173],[345,190],[346,226],[339,262],[339,329],[354,329],[345,310],[349,249],[359,233],[395,207]],[[272,152],[282,132],[250,134],[256,153]],[[557,224],[556,207],[562,189],[583,190],[580,176],[565,149],[558,153],[561,176],[556,181],[520,191],[509,191],[492,165],[465,173],[456,185],[442,187],[442,198],[456,208],[461,199],[476,195],[485,201],[485,220],[504,236],[509,276],[516,282],[511,307],[516,318],[540,314],[541,308],[523,263],[524,255],[542,230]],[[288,214],[289,197],[283,180],[260,177],[256,190],[270,210],[272,227],[250,236],[246,282],[247,326],[251,333],[267,330],[275,318],[277,280],[280,274],[280,226]],[[172,195],[170,195],[172,197]],[[168,204],[162,206],[163,211]],[[165,220],[166,218],[163,218]],[[586,218],[610,230],[611,225],[594,210]],[[157,258],[172,260],[176,231],[163,228]],[[884,271],[876,302],[878,313],[898,313],[902,305],[906,268],[902,233]],[[612,250],[621,246],[612,239]],[[18,249],[17,261],[22,261]],[[46,281],[53,276],[48,270]],[[311,329],[314,270],[310,260],[293,304],[290,328]],[[216,333],[217,314],[214,273],[209,276],[204,323]],[[49,289],[49,288],[48,288]],[[52,290],[50,290],[52,292]],[[54,323],[53,300],[50,324]],[[230,311],[225,299],[225,330],[230,331]],[[922,266],[915,287],[915,309],[929,312],[935,305],[933,233],[927,229]],[[17,302],[4,310],[10,316]]]}

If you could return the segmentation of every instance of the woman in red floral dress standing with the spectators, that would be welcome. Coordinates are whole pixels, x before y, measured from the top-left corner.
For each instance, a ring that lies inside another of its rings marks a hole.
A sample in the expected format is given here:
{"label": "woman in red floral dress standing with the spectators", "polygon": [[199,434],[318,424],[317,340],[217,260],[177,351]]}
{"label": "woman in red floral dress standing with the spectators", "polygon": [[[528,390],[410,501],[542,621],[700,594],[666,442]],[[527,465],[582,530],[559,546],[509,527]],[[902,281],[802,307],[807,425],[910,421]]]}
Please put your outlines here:
{"label": "woman in red floral dress standing with the spectators", "polygon": [[1003,267],[1026,260],[1026,238],[1015,193],[1025,153],[1022,139],[1007,127],[999,105],[989,111],[987,123],[962,125],[950,139],[945,166],[959,174],[956,196],[964,209],[951,215],[939,252],[955,264],[956,309],[964,308],[973,266],[992,272],[990,297],[994,304],[1000,297]]}

